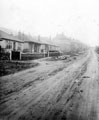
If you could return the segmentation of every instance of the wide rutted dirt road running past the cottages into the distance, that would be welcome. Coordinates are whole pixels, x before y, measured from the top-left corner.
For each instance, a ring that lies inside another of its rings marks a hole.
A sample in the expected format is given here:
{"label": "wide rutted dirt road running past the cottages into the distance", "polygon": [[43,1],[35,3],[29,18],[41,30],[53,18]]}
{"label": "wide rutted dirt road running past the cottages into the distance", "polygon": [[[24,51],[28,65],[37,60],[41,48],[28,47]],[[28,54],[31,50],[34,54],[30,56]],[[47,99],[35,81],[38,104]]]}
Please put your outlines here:
{"label": "wide rutted dirt road running past the cottages into the distance", "polygon": [[0,120],[99,120],[96,53],[1,77]]}

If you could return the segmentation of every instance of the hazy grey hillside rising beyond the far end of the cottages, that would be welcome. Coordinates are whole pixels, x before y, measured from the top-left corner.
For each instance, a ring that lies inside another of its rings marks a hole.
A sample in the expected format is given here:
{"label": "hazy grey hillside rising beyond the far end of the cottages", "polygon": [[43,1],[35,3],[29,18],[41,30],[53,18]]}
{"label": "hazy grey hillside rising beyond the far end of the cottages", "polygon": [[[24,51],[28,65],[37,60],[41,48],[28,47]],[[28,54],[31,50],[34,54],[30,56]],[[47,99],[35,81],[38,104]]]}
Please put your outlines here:
{"label": "hazy grey hillside rising beyond the far end of the cottages", "polygon": [[85,44],[81,43],[78,40],[66,37],[63,33],[57,34],[53,38],[53,42],[57,44],[58,46],[60,46],[63,52],[78,51],[78,50],[87,48]]}

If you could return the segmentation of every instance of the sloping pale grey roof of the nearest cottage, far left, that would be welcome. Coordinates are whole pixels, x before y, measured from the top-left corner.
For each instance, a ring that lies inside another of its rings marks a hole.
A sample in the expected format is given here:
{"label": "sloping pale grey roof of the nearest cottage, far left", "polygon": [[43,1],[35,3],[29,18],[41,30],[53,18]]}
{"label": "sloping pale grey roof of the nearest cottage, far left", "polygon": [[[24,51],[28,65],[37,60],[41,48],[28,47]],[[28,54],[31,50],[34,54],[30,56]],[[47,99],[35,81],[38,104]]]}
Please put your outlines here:
{"label": "sloping pale grey roof of the nearest cottage, far left", "polygon": [[8,34],[2,30],[0,30],[0,40],[10,40],[10,41],[15,41],[15,42],[23,42],[22,40],[19,40],[15,36]]}

